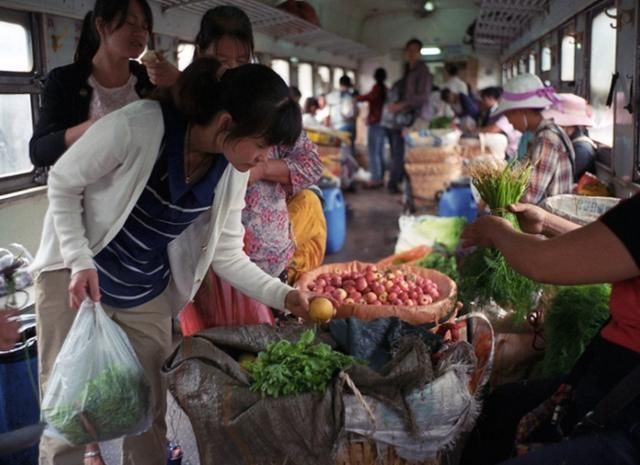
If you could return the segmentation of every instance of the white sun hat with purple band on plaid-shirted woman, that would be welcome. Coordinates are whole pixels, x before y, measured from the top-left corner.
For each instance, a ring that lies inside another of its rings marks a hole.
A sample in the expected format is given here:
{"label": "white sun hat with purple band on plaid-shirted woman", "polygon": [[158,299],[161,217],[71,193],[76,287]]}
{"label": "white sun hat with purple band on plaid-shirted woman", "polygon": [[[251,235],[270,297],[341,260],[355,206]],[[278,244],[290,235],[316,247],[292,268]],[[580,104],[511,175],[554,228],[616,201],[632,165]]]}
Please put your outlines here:
{"label": "white sun hat with purple band on plaid-shirted woman", "polygon": [[508,80],[500,96],[495,117],[505,111],[519,109],[545,109],[558,101],[553,87],[545,86],[535,74],[520,74]]}

